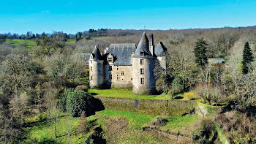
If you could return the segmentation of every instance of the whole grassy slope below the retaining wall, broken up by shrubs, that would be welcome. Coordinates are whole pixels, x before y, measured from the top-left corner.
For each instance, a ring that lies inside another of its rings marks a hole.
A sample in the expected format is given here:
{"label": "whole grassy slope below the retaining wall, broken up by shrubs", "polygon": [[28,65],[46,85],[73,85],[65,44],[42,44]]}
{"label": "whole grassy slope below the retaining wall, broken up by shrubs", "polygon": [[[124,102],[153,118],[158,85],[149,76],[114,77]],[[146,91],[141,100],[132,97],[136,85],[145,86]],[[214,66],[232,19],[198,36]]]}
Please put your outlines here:
{"label": "whole grassy slope below the retaining wall, broken up by shrubs", "polygon": [[[124,118],[128,126],[118,128],[115,118]],[[101,126],[104,130],[103,137],[107,143],[170,143],[169,139],[162,135],[152,132],[143,131],[143,126],[151,124],[157,119],[157,115],[146,115],[141,113],[132,113],[127,111],[102,110],[96,115],[91,115],[87,118],[88,126],[93,129],[95,126]],[[172,132],[181,132],[181,134],[190,134],[193,129],[185,129],[186,127],[195,125],[200,118],[197,115],[188,115],[184,117],[170,116],[167,117],[169,122],[162,129],[172,129]],[[58,137],[54,137],[53,121],[35,121],[31,126],[25,128],[26,135],[22,143],[34,143],[37,140],[39,143],[69,143],[67,137],[67,121],[69,117],[62,115],[59,118],[57,129]],[[83,143],[90,132],[78,133],[76,131],[80,118],[71,118],[72,143]],[[33,122],[33,121],[30,121]],[[187,132],[184,131],[187,130]]]}

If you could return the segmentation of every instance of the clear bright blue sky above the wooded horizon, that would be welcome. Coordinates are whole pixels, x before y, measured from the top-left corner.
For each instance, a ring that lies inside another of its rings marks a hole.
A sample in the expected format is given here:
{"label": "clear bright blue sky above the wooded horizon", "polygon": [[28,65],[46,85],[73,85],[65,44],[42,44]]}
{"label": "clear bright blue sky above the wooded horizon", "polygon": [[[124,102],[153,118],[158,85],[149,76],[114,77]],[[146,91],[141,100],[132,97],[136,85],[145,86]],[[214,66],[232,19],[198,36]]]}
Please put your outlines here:
{"label": "clear bright blue sky above the wooded horizon", "polygon": [[256,25],[255,0],[3,0],[0,33]]}

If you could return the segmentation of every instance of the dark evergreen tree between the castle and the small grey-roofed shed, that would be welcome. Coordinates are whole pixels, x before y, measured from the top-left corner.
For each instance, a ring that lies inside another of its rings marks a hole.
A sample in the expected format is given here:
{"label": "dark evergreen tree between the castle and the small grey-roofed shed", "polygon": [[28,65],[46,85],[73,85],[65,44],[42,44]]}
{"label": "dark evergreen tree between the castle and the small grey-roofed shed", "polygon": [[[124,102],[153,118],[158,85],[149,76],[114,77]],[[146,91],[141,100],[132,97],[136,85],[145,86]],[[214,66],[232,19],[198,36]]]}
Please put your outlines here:
{"label": "dark evergreen tree between the castle and the small grey-roofed shed", "polygon": [[208,58],[206,56],[207,53],[207,42],[203,40],[203,37],[200,39],[197,39],[197,42],[195,42],[195,63],[199,67],[204,67],[206,64],[208,64]]}

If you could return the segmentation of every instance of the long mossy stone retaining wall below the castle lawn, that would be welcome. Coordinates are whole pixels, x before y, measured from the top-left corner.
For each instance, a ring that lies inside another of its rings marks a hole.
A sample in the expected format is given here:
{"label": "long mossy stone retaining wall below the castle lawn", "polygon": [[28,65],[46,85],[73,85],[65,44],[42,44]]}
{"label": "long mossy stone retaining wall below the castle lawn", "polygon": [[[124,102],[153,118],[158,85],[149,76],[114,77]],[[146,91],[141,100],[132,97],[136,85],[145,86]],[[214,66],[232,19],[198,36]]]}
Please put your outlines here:
{"label": "long mossy stone retaining wall below the castle lawn", "polygon": [[107,110],[124,110],[150,115],[183,115],[197,107],[197,102],[179,100],[124,99],[97,96]]}

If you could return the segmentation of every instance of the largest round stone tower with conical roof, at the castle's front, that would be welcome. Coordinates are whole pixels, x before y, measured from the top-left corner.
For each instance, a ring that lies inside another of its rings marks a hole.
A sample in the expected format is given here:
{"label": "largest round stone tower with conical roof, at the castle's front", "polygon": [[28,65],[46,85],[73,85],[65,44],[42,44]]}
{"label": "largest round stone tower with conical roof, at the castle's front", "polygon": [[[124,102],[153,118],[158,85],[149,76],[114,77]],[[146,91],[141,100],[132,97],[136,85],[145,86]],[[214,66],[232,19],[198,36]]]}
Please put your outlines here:
{"label": "largest round stone tower with conical roof, at the castle's front", "polygon": [[[154,50],[152,50],[154,52]],[[132,92],[135,94],[154,94],[154,64],[156,57],[149,50],[146,33],[143,33],[138,48],[132,56]]]}

